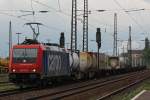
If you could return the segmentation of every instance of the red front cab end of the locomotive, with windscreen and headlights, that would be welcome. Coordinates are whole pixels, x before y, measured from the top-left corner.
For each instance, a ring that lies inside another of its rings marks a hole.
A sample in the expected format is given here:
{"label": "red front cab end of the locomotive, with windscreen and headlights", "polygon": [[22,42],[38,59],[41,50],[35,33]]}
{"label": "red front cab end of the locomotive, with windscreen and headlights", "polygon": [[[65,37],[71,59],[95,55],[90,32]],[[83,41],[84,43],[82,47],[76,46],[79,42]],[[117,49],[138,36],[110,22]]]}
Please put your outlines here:
{"label": "red front cab end of the locomotive, with windscreen and headlights", "polygon": [[13,83],[33,81],[40,78],[42,66],[40,44],[16,45],[13,47],[9,65],[9,79]]}

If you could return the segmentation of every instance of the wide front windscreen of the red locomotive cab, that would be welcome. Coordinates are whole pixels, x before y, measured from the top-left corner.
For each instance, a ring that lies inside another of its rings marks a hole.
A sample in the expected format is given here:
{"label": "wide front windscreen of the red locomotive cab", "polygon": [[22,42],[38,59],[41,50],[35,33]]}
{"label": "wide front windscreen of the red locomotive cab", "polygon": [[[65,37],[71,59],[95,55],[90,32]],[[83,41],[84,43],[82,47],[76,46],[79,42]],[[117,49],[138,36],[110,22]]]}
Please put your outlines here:
{"label": "wide front windscreen of the red locomotive cab", "polygon": [[35,63],[37,58],[37,49],[14,49],[13,62],[14,63]]}

